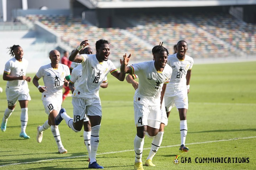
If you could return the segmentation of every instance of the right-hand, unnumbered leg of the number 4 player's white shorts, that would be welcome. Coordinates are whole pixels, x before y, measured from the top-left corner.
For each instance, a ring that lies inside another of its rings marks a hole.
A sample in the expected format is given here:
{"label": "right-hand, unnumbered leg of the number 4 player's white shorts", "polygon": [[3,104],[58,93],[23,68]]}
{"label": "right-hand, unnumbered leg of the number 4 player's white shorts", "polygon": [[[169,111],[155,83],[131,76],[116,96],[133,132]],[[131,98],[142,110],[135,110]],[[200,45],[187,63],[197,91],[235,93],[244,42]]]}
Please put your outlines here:
{"label": "right-hand, unnumbered leg of the number 4 player's white shorts", "polygon": [[161,123],[161,109],[160,105],[151,106],[148,114],[148,126],[159,129]]}

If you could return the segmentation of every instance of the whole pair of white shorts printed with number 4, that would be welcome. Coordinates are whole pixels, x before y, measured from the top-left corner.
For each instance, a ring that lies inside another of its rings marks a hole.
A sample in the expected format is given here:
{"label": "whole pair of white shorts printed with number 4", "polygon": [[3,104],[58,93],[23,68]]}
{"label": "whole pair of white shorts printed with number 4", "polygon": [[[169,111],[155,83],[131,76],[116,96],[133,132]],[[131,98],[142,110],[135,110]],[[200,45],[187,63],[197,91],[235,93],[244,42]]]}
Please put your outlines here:
{"label": "whole pair of white shorts printed with number 4", "polygon": [[134,121],[136,126],[150,126],[159,129],[161,123],[160,100],[150,97],[133,98]]}

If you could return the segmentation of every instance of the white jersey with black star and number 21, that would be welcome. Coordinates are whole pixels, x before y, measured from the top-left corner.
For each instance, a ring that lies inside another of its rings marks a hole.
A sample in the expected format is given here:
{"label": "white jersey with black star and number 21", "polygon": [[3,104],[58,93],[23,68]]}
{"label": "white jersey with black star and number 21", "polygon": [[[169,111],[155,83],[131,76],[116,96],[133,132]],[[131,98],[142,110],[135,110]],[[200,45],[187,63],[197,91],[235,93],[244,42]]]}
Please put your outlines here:
{"label": "white jersey with black star and number 21", "polygon": [[177,58],[177,53],[168,56],[167,64],[169,64],[169,66],[171,66],[172,68],[172,75],[170,83],[166,86],[166,96],[168,96],[168,94],[171,94],[174,90],[187,90],[186,75],[187,71],[192,69],[193,63],[193,58],[187,55],[185,56],[184,60],[179,60]]}

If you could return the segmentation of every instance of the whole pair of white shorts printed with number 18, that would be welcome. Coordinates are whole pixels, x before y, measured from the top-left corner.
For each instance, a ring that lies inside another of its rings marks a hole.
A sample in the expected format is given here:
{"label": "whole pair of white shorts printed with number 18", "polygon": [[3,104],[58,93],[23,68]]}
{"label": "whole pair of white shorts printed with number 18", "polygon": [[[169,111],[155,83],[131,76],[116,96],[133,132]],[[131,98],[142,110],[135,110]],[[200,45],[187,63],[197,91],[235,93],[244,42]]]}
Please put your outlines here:
{"label": "whole pair of white shorts printed with number 18", "polygon": [[74,122],[89,121],[87,116],[102,116],[101,101],[97,98],[72,97]]}

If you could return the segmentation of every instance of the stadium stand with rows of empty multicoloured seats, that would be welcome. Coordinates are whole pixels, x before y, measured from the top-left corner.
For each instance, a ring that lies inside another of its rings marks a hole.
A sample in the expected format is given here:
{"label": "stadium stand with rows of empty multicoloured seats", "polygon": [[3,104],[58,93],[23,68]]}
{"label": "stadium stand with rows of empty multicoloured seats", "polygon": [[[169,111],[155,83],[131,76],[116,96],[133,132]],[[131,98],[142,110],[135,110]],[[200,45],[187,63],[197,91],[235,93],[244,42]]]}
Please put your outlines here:
{"label": "stadium stand with rows of empty multicoloured seats", "polygon": [[[191,17],[193,16],[193,17]],[[177,41],[188,42],[188,55],[194,58],[254,55],[256,27],[222,13],[166,15],[133,15],[122,17],[134,27],[98,28],[81,18],[61,15],[27,15],[32,22],[39,21],[54,30],[65,44],[75,48],[83,39],[90,47],[98,39],[111,42],[111,60],[119,60],[124,53],[132,53],[134,60],[151,60],[151,48],[164,42],[170,49]],[[230,22],[231,21],[231,22]],[[84,22],[83,22],[84,23]]]}

